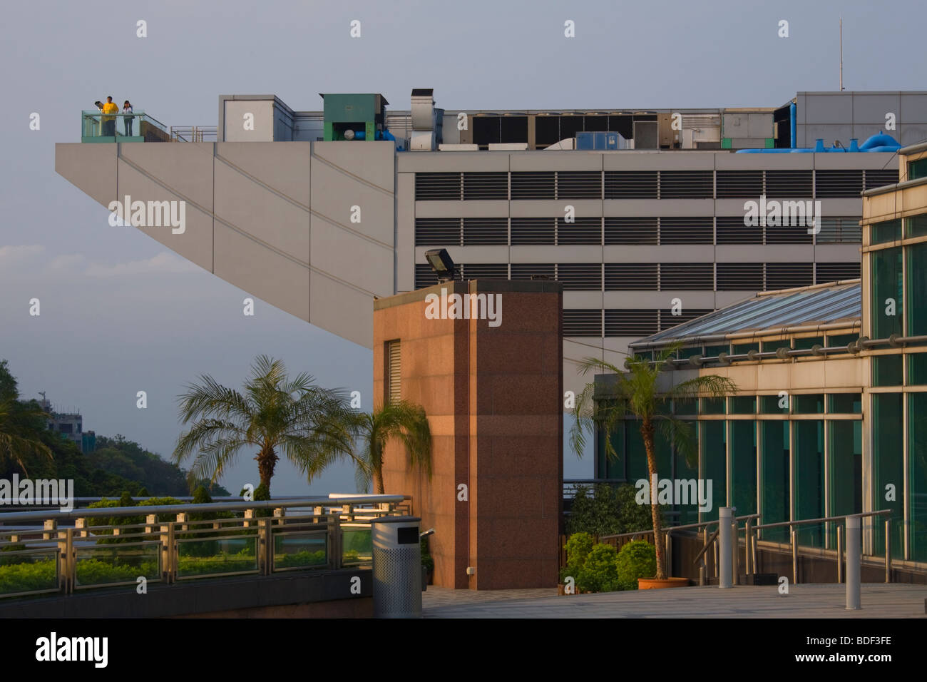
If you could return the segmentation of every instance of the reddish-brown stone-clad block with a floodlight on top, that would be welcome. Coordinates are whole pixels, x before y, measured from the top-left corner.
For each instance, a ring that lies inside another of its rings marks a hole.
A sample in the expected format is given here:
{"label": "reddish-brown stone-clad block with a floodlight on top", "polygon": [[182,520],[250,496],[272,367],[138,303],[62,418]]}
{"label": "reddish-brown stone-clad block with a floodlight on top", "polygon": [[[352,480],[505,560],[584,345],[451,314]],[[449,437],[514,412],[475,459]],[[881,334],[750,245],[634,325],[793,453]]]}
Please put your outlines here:
{"label": "reddish-brown stone-clad block with a floodlight on top", "polygon": [[[502,297],[502,325],[427,319],[425,295]],[[400,340],[401,396],[425,407],[433,472],[407,470],[389,444],[387,490],[413,495],[435,585],[552,586],[563,481],[561,293],[553,282],[474,280],[375,302],[374,394],[385,397],[386,342]],[[460,499],[458,486],[467,486]],[[476,574],[468,576],[468,566]]]}

